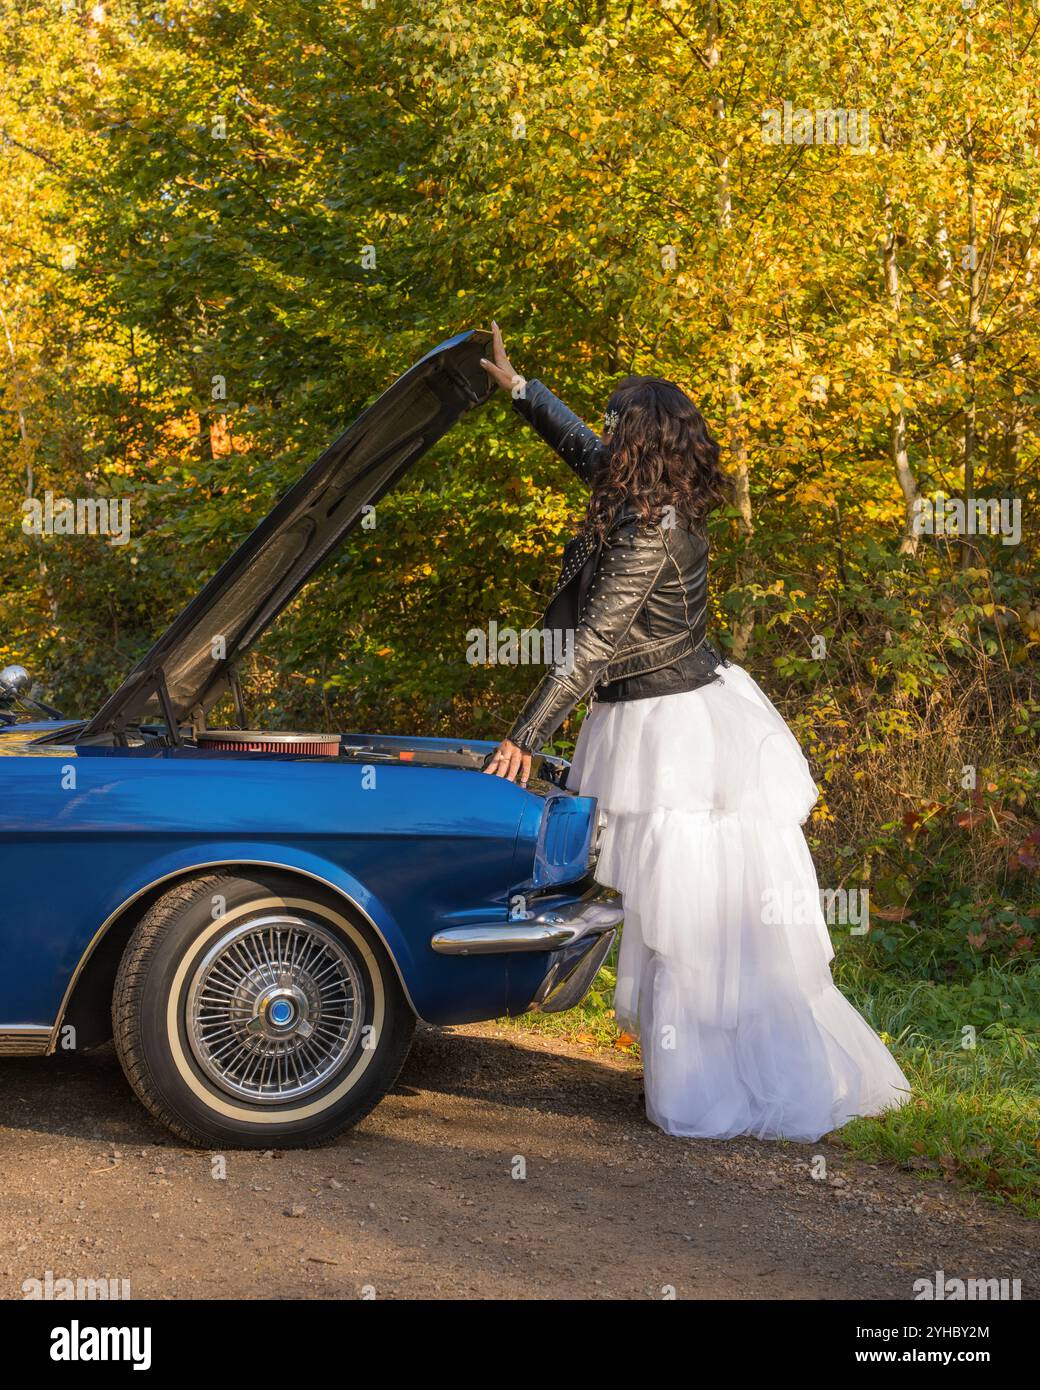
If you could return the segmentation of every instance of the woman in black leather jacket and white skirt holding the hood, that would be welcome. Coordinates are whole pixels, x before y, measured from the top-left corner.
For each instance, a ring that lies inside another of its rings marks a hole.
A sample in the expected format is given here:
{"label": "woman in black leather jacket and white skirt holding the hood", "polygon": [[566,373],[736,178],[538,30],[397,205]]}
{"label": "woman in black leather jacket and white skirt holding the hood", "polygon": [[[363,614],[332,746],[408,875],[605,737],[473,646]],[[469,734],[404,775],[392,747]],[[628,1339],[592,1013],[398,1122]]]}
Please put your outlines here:
{"label": "woman in black leather jacket and white skirt holding the hood", "polygon": [[531,753],[591,701],[570,784],[608,817],[596,877],[624,898],[615,1006],[641,1041],[649,1119],[816,1140],[902,1104],[902,1072],[830,977],[805,758],[705,637],[705,517],[726,478],[701,413],[672,382],[630,377],[598,436],[516,375],[498,325],[482,366],[591,489],[544,620],[573,630],[566,660],[485,770],[527,783]]}

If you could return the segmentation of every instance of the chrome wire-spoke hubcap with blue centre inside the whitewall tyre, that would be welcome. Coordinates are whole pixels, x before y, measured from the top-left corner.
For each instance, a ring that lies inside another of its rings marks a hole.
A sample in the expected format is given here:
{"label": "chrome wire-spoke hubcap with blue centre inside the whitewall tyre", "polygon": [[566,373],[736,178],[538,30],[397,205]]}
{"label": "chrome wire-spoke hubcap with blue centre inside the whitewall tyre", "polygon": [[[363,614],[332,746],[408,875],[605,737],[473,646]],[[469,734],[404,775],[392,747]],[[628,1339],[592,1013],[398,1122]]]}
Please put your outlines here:
{"label": "chrome wire-spoke hubcap with blue centre inside the whitewall tyre", "polygon": [[222,1091],[264,1104],[320,1090],[350,1056],[364,986],[346,947],[303,917],[252,917],[210,947],[188,991],[188,1038]]}

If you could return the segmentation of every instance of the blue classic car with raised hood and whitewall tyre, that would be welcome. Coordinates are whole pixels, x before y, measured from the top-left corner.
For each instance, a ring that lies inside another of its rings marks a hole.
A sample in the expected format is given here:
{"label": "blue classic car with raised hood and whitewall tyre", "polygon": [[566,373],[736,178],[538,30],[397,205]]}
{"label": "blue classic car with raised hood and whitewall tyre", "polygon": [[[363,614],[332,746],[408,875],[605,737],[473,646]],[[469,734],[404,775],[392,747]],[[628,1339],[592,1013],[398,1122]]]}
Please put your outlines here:
{"label": "blue classic car with raised hood and whitewall tyre", "polygon": [[[596,808],[466,738],[249,730],[236,664],[375,503],[489,395],[489,335],[428,353],[291,488],[89,721],[0,674],[0,1054],[114,1038],[209,1147],[327,1140],[416,1026],[580,1002],[620,924]],[[236,728],[213,728],[222,696]]]}

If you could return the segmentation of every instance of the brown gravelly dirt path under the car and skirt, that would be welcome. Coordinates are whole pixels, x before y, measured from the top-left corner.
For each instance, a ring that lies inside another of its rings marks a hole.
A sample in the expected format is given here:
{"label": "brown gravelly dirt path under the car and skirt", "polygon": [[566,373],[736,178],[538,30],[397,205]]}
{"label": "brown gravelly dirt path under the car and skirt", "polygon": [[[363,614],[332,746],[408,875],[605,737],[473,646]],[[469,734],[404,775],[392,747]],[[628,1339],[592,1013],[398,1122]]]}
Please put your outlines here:
{"label": "brown gravelly dirt path under the car and skirt", "polygon": [[6,1298],[47,1270],[145,1298],[911,1298],[937,1269],[1040,1290],[1023,1218],[826,1144],[667,1138],[633,1063],[492,1024],[420,1030],[359,1130],[227,1154],[224,1180],[111,1052],[6,1061],[0,1120]]}

